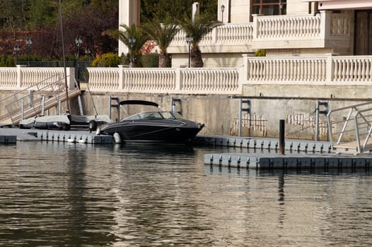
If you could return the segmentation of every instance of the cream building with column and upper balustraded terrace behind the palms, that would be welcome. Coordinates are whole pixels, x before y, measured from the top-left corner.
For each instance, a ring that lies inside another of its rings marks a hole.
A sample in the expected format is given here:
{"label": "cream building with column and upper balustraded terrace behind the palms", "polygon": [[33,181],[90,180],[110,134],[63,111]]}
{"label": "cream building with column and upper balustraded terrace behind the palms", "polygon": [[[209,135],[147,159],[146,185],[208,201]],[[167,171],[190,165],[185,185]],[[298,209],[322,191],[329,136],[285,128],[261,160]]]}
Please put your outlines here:
{"label": "cream building with column and upper balustraded terrace behind the palms", "polygon": [[[139,23],[139,0],[120,0],[119,23]],[[243,64],[242,54],[267,56],[372,54],[372,1],[219,0],[222,25],[200,43],[204,67]],[[119,52],[127,52],[120,44]],[[187,64],[185,34],[168,48],[173,67]]]}

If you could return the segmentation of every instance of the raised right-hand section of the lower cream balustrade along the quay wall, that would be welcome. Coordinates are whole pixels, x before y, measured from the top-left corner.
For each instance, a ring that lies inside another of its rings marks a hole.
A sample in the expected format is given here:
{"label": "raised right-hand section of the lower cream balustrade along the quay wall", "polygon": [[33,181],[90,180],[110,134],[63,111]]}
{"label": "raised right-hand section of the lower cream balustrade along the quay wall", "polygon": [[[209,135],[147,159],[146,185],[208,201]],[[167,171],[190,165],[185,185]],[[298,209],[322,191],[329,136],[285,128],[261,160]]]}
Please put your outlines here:
{"label": "raised right-hand section of the lower cream balustrade along the quay wall", "polygon": [[372,56],[245,56],[244,63],[247,84],[358,85],[372,80]]}

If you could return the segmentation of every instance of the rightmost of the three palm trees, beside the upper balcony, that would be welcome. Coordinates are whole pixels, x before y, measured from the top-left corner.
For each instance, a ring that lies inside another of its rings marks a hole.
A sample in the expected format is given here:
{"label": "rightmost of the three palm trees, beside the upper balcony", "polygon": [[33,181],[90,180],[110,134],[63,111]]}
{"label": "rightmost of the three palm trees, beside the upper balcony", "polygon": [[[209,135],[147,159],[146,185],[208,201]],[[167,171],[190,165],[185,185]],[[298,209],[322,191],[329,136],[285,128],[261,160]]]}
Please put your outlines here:
{"label": "rightmost of the three palm trees, beside the upper balcony", "polygon": [[186,36],[192,37],[190,50],[191,67],[202,68],[204,62],[202,59],[202,52],[199,48],[199,42],[205,35],[211,32],[212,29],[222,25],[222,23],[210,22],[199,16],[195,16],[194,21],[190,18],[185,18],[185,20],[180,22],[180,25],[185,31]]}

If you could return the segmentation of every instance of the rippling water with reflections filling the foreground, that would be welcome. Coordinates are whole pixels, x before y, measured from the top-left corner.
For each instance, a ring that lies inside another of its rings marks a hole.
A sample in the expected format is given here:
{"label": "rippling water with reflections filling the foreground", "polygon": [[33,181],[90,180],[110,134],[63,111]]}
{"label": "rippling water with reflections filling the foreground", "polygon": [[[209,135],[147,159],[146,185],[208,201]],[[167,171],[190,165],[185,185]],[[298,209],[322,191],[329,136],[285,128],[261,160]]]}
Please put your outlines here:
{"label": "rippling water with reflections filling the foreground", "polygon": [[1,146],[0,245],[371,245],[368,171],[229,169],[209,151]]}

